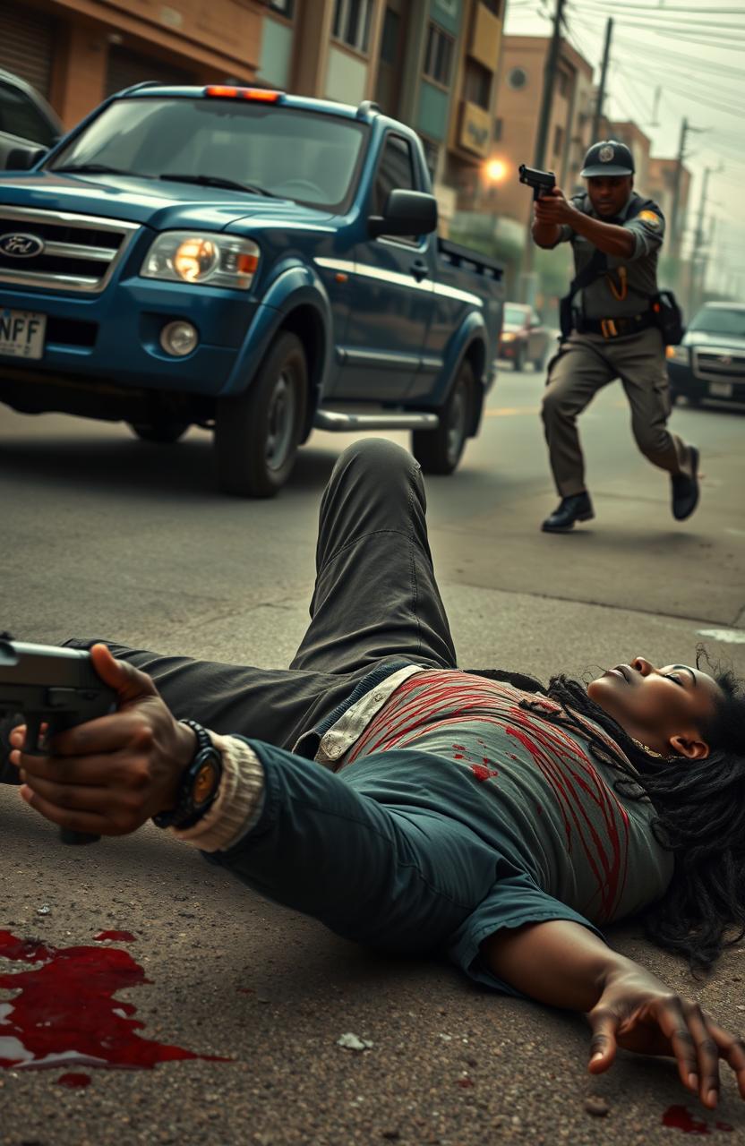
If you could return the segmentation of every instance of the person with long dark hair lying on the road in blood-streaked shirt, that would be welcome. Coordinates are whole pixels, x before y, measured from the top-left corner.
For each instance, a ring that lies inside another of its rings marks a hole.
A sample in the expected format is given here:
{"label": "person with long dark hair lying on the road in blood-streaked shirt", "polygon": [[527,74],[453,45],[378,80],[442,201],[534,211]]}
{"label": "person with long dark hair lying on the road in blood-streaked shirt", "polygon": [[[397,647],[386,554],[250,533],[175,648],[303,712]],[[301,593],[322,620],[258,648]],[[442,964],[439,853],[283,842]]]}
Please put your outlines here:
{"label": "person with long dark hair lying on the road in blood-streaked shirt", "polygon": [[617,1046],[674,1055],[713,1108],[721,1058],[745,1097],[743,1041],[599,931],[643,913],[703,970],[744,934],[737,682],[643,657],[587,689],[456,669],[419,469],[386,441],[338,460],[316,559],[289,669],[71,641],[118,712],[46,756],[14,730],[3,778],[68,830],[155,817],[339,935],[585,1012],[595,1074]]}

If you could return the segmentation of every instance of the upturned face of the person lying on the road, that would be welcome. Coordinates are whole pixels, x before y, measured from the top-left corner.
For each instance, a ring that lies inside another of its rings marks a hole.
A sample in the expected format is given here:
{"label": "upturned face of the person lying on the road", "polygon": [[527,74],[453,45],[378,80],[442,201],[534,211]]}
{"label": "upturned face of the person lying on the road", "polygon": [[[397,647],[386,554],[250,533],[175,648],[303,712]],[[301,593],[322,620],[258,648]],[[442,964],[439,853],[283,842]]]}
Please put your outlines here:
{"label": "upturned face of the person lying on the road", "polygon": [[656,668],[644,657],[609,668],[588,696],[629,736],[662,755],[708,755],[701,729],[722,692],[713,677],[687,665]]}

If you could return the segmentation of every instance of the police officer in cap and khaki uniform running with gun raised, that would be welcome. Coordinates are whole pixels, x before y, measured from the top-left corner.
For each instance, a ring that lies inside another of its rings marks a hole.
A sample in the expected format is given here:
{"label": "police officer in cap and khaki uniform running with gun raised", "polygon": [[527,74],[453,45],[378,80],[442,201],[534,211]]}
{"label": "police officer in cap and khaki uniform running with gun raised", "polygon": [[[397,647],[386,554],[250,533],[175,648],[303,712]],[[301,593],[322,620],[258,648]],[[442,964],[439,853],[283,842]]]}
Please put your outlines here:
{"label": "police officer in cap and khaki uniform running with gun raised", "polygon": [[562,501],[542,528],[565,533],[595,516],[577,416],[614,378],[621,379],[632,407],[638,448],[672,477],[673,516],[682,521],[698,502],[698,450],[666,427],[665,346],[652,309],[665,220],[656,203],[634,191],[634,159],[624,143],[595,143],[581,175],[587,194],[567,201],[554,188],[534,204],[536,244],[571,242],[577,270],[543,398],[546,440]]}

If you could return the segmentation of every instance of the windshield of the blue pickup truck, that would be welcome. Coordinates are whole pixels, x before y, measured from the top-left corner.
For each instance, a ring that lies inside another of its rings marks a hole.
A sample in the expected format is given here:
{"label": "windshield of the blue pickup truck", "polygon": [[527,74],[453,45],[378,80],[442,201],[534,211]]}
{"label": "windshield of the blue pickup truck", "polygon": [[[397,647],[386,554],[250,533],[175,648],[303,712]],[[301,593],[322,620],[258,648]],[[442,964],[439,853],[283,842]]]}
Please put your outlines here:
{"label": "windshield of the blue pickup truck", "polygon": [[366,127],[245,100],[117,100],[47,170],[113,168],[147,179],[209,176],[346,210]]}

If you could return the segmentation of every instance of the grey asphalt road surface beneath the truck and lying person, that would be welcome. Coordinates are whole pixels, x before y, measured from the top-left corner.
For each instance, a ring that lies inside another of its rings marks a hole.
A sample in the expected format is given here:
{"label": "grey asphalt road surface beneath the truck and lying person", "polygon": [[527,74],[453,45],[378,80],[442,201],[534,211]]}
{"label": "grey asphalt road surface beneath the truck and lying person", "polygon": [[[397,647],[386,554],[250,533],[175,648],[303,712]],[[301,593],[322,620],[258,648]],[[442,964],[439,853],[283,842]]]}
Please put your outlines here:
{"label": "grey asphalt road surface beneath the truck and lying person", "polygon": [[[666,476],[636,454],[622,392],[609,387],[581,423],[597,517],[547,536],[539,525],[556,499],[541,388],[541,377],[505,367],[460,471],[428,484],[460,662],[546,678],[597,673],[637,653],[690,664],[704,641],[745,673],[743,417],[674,411],[672,425],[699,446],[705,474],[697,513],[677,524]],[[157,447],[123,426],[0,409],[0,628],[30,641],[102,635],[287,665],[306,619],[320,493],[348,440],[314,435],[279,499],[242,502],[217,493],[199,431]],[[29,1022],[49,1025],[34,1037],[49,1045],[64,1027],[74,1034],[62,1043],[80,1049],[72,1000],[87,991],[94,1027],[113,1031],[115,1058],[142,1047],[121,1027],[130,1004],[143,1039],[229,1059],[0,1069],[3,1146],[646,1146],[695,1132],[696,1120],[698,1132],[745,1141],[730,1080],[714,1116],[689,1100],[668,1061],[621,1055],[591,1080],[581,1017],[481,992],[445,964],[359,950],[258,900],[154,827],[64,849],[10,788],[0,790],[0,949],[18,955],[7,928],[58,950],[40,968],[0,953],[0,1022],[21,998],[8,986],[17,972],[29,980]],[[132,939],[95,943],[103,931]],[[745,1027],[745,943],[711,981],[695,983],[634,924],[611,939],[724,1025]],[[22,953],[28,960],[34,950],[32,942]],[[95,997],[103,980],[86,960],[105,958],[116,973],[109,995]],[[32,990],[40,971],[46,996]],[[45,1012],[36,1019],[34,998]],[[344,1049],[345,1033],[372,1045]],[[0,1026],[0,1057],[3,1034]],[[87,1073],[89,1085],[61,1082],[70,1073]],[[588,1112],[590,1096],[604,1100],[605,1116]]]}

